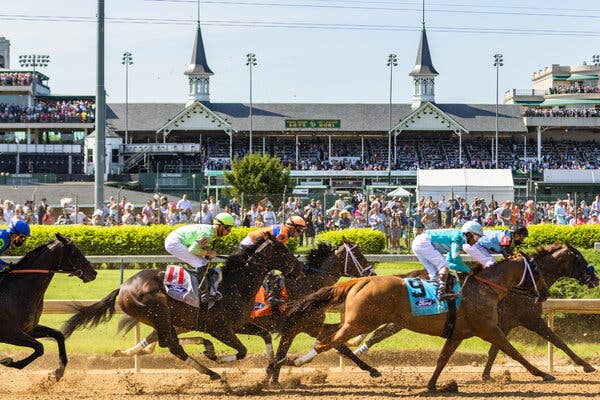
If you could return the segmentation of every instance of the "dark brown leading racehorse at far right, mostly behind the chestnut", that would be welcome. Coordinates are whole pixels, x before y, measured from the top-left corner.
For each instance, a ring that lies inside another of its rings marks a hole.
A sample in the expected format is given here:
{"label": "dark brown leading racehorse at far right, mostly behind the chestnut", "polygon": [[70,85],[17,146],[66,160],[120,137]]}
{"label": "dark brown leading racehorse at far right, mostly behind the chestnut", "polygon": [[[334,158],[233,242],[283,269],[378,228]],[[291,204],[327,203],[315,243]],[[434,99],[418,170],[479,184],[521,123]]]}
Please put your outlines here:
{"label": "dark brown leading racehorse at far right, mostly behind the chestnut", "polygon": [[[542,247],[538,250],[536,259],[548,287],[551,287],[562,277],[577,279],[579,283],[586,285],[590,289],[599,284],[599,278],[594,271],[594,267],[588,265],[581,252],[569,244],[564,246],[554,244]],[[417,270],[401,277],[427,277],[427,275],[427,271]],[[542,318],[541,303],[532,301],[532,299],[523,292],[511,290],[503,301],[500,302],[498,313],[500,328],[505,335],[508,335],[514,328],[523,326],[563,350],[577,365],[582,366],[585,372],[594,372],[596,370],[587,361],[575,354],[569,346],[567,346],[567,344],[548,327]],[[377,329],[356,353],[363,354],[376,343],[392,336],[401,329],[402,327],[397,326],[396,324],[387,324]],[[482,374],[483,380],[491,378],[490,371],[497,355],[498,347],[492,344]]]}

